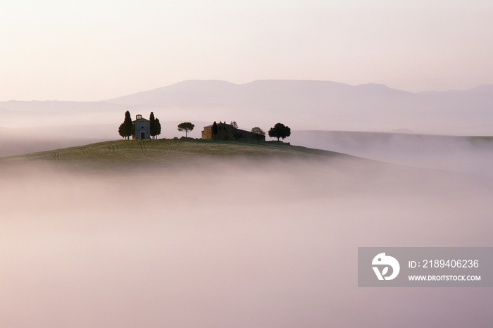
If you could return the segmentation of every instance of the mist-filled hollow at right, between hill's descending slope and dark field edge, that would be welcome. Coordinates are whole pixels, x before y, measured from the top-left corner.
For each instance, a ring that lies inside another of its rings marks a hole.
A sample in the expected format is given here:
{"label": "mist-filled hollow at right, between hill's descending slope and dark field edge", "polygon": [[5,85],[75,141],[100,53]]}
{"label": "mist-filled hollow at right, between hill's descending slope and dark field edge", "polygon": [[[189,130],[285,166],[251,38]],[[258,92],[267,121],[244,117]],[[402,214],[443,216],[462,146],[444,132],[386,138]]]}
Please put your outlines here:
{"label": "mist-filled hollow at right, between hill's descending slope and dark field edge", "polygon": [[289,141],[388,163],[493,177],[493,137],[295,131]]}

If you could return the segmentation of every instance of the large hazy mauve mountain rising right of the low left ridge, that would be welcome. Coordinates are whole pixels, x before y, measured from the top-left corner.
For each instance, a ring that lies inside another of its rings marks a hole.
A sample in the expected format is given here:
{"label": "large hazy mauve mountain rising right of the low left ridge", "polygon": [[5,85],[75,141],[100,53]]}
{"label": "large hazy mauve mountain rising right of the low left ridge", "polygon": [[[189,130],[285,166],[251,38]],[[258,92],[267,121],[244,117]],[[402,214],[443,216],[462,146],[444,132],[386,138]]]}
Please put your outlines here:
{"label": "large hazy mauve mountain rising right of the low left ridge", "polygon": [[[492,134],[472,127],[493,122],[493,86],[466,91],[411,93],[382,84],[311,80],[257,80],[233,84],[189,80],[106,102],[137,108],[181,108],[256,125],[284,120],[304,130]],[[247,115],[246,115],[247,113]],[[210,115],[208,116],[210,119]],[[204,116],[201,120],[206,120]],[[258,123],[257,123],[258,124]],[[290,126],[291,126],[290,125]],[[438,131],[436,131],[438,130]]]}

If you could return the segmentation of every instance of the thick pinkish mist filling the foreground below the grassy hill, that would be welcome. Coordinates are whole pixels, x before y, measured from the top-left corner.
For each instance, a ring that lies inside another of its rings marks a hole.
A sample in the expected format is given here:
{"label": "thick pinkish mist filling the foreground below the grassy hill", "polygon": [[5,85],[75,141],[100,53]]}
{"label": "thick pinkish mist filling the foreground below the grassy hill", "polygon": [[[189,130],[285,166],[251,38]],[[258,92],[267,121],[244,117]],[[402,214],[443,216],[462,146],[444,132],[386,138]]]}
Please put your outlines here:
{"label": "thick pinkish mist filling the foreground below the grassy hill", "polygon": [[492,182],[356,158],[1,171],[2,327],[486,327],[490,289],[363,289],[358,246],[491,246]]}

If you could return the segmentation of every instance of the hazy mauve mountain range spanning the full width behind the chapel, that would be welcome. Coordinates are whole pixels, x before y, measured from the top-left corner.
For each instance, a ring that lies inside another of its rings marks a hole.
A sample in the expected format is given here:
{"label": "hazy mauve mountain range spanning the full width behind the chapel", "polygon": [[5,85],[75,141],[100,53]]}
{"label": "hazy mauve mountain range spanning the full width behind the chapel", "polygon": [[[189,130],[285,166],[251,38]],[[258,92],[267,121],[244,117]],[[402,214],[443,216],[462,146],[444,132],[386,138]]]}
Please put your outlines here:
{"label": "hazy mauve mountain range spanning the full width behind the chapel", "polygon": [[16,118],[21,111],[43,112],[45,121],[73,125],[76,119],[84,121],[80,124],[119,124],[128,110],[132,115],[154,111],[168,121],[235,120],[246,130],[254,126],[268,130],[283,122],[294,130],[493,135],[493,86],[487,84],[465,91],[411,93],[382,84],[187,80],[106,101],[6,101],[0,108],[7,118],[1,125],[10,127],[25,124],[25,118]]}

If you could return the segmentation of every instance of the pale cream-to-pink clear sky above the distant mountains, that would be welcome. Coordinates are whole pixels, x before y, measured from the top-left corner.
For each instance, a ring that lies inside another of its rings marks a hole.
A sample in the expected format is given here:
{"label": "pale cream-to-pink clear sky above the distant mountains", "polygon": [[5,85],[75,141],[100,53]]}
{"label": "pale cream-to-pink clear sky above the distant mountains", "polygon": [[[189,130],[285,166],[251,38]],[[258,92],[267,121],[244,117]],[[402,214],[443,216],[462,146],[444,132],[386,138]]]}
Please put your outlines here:
{"label": "pale cream-to-pink clear sky above the distant mountains", "polygon": [[493,84],[491,0],[0,0],[0,101],[182,80]]}

